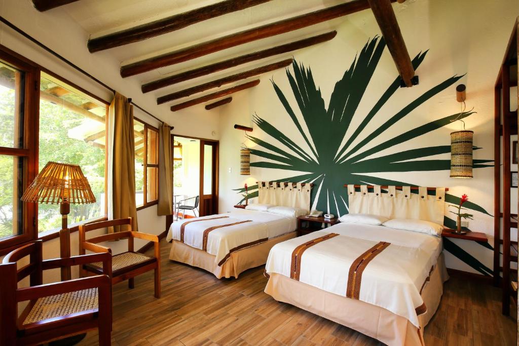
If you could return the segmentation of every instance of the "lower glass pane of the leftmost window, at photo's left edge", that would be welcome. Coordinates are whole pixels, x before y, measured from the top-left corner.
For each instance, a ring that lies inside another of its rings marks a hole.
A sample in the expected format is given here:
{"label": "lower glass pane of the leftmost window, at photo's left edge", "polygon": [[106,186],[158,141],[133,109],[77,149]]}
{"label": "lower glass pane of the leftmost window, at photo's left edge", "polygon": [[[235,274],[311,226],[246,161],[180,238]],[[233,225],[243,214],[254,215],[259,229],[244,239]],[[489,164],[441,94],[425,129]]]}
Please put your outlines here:
{"label": "lower glass pane of the leftmost window, at photo's left edge", "polygon": [[23,233],[23,159],[0,155],[0,239]]}

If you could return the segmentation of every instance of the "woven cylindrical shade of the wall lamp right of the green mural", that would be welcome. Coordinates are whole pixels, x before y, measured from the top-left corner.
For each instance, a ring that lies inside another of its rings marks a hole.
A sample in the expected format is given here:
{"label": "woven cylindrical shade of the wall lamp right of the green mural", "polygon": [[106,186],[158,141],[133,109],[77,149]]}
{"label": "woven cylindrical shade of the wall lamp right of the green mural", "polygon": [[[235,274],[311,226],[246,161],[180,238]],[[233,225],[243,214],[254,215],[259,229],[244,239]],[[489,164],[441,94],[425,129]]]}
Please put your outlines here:
{"label": "woven cylindrical shade of the wall lamp right of the green mural", "polygon": [[472,138],[474,131],[450,133],[450,177],[472,178]]}

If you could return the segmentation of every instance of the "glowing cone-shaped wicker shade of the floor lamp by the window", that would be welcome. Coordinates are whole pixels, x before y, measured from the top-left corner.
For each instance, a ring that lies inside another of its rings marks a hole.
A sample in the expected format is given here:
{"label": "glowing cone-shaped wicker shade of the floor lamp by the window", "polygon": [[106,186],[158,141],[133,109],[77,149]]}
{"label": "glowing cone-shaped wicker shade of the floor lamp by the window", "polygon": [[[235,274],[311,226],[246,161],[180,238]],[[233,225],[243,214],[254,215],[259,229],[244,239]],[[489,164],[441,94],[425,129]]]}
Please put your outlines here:
{"label": "glowing cone-shaped wicker shade of the floor lamp by the window", "polygon": [[95,203],[95,196],[78,165],[47,162],[23,193],[22,201],[85,204]]}

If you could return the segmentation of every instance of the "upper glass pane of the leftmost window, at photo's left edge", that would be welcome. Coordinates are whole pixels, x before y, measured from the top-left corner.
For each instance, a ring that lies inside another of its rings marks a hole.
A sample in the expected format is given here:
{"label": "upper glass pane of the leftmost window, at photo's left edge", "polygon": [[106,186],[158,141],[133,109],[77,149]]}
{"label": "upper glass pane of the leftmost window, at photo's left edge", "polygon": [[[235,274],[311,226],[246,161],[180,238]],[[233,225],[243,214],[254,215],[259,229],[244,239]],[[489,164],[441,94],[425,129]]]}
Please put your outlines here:
{"label": "upper glass pane of the leftmost window, at photo's left edge", "polygon": [[23,148],[25,73],[0,62],[0,146]]}

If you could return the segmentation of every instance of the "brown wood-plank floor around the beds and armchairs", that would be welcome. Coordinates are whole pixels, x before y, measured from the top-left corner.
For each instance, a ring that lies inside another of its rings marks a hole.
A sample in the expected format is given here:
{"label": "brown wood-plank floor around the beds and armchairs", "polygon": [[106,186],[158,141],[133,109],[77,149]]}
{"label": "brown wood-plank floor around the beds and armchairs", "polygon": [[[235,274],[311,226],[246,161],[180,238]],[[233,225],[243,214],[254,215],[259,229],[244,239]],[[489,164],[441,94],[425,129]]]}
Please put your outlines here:
{"label": "brown wood-plank floor around the beds and armchairs", "polygon": [[[168,259],[162,241],[162,298],[153,297],[153,272],[114,288],[112,344],[127,345],[378,345],[380,342],[263,292],[263,267],[238,280]],[[513,311],[513,309],[512,309]],[[515,345],[514,317],[501,315],[500,291],[451,278],[438,312],[425,328],[427,346]],[[81,346],[97,344],[97,331]]]}

